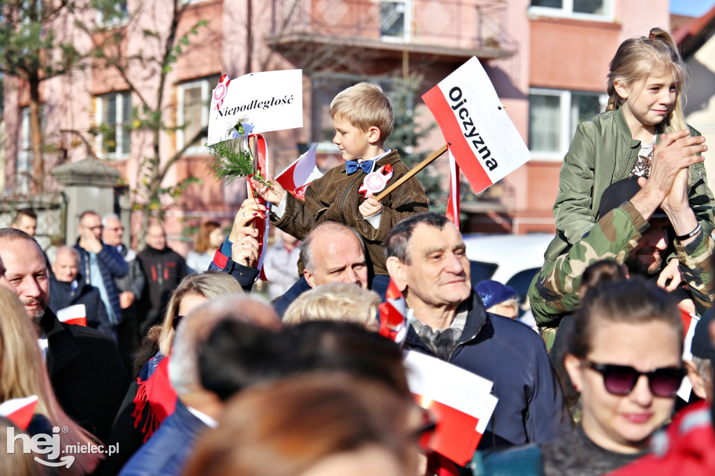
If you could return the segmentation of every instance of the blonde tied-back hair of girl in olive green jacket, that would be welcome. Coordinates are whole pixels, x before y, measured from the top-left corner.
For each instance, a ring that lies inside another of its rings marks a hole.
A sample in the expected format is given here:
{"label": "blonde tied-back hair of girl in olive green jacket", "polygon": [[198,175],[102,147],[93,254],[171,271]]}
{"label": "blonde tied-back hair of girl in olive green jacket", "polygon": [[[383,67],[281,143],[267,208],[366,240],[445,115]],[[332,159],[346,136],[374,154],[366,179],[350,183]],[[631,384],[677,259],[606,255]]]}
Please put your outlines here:
{"label": "blonde tied-back hair of girl in olive green jacket", "polygon": [[618,109],[623,104],[623,98],[618,96],[614,86],[616,81],[621,81],[627,87],[638,83],[643,87],[651,71],[662,68],[672,75],[677,91],[675,104],[672,105],[664,122],[664,132],[679,131],[688,127],[683,114],[687,69],[678,46],[667,31],[654,28],[651,29],[649,36],[623,41],[609,66],[606,111]]}

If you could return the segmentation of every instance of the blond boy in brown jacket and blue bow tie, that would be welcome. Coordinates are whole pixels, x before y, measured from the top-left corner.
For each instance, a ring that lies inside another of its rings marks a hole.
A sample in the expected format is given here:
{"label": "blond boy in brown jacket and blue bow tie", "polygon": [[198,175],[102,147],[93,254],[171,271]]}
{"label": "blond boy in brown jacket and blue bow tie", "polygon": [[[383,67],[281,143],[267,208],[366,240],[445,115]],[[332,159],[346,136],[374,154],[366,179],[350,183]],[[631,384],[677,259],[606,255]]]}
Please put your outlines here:
{"label": "blond boy in brown jacket and blue bow tie", "polygon": [[[298,239],[329,220],[357,230],[365,240],[371,276],[378,277],[372,289],[375,284],[386,288],[389,278],[383,240],[400,220],[427,211],[427,197],[413,177],[380,202],[374,198],[409,172],[396,150],[384,148],[393,132],[394,115],[390,99],[380,86],[360,83],[345,89],[330,103],[330,116],[335,129],[332,142],[340,148],[345,164],[312,182],[305,191],[305,202],[286,193],[275,181],[270,188],[255,181],[252,185],[257,194],[276,205],[271,222]],[[368,174],[372,175],[366,182]],[[383,183],[384,187],[378,189]],[[367,190],[364,185],[369,186]],[[299,272],[302,274],[302,269]]]}

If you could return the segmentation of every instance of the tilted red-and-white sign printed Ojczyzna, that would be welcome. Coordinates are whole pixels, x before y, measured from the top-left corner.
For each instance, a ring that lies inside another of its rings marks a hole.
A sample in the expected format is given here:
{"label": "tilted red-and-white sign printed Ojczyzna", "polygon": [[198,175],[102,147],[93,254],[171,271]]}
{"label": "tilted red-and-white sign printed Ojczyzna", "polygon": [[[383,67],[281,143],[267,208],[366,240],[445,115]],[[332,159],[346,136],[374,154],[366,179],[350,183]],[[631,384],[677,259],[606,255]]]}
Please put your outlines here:
{"label": "tilted red-and-white sign printed Ojczyzna", "polygon": [[422,99],[475,194],[531,159],[476,57],[427,91]]}

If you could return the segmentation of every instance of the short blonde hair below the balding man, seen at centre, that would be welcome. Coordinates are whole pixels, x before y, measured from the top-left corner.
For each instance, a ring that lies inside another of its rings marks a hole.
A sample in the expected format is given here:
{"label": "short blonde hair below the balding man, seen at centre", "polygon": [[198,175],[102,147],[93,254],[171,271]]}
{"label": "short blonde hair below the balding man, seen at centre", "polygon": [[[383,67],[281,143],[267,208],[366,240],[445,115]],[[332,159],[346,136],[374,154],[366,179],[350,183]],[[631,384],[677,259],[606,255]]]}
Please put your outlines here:
{"label": "short blonde hair below the balding man, seen at centre", "polygon": [[298,296],[283,314],[285,324],[348,321],[377,331],[380,296],[353,283],[331,282]]}

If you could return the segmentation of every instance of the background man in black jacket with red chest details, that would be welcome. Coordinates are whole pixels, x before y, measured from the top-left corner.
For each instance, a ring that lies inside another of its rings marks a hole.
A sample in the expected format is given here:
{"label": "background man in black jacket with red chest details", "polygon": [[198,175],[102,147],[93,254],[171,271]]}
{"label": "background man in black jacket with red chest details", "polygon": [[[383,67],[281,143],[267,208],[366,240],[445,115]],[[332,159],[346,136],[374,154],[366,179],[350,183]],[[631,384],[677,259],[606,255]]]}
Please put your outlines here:
{"label": "background man in black jacket with red chest details", "polygon": [[142,272],[147,280],[147,289],[142,294],[144,314],[139,321],[139,338],[144,337],[154,324],[162,322],[163,312],[172,291],[188,274],[186,261],[173,249],[167,247],[167,234],[161,224],[149,225],[147,247],[137,254]]}

